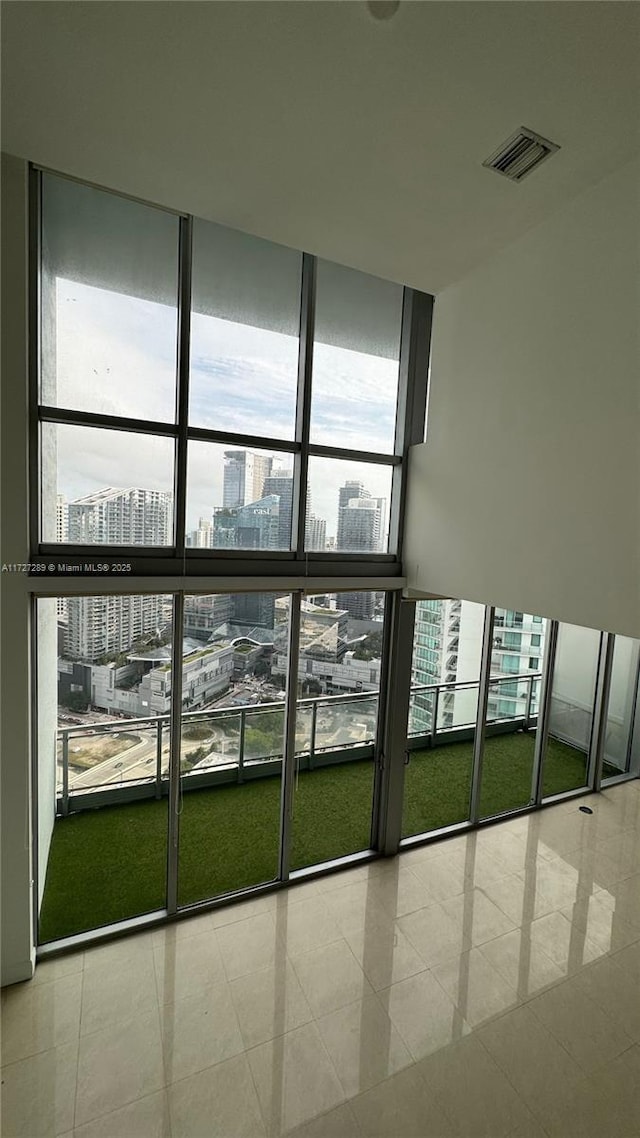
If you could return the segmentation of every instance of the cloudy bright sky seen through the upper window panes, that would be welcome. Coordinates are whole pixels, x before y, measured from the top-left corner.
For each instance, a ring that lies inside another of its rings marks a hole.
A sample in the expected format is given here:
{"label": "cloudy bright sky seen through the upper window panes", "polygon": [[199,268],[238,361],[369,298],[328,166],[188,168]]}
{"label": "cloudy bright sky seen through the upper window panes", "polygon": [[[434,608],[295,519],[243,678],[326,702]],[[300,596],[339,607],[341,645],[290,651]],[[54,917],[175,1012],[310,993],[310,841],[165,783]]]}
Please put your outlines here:
{"label": "cloudy bright sky seen through the upper window panes", "polygon": [[[56,316],[57,406],[175,421],[174,308],[58,278]],[[289,442],[296,386],[296,337],[194,313],[190,426]],[[396,393],[397,361],[317,344],[311,440],[392,453]],[[57,432],[58,493],[69,501],[105,486],[172,489],[170,439],[71,426],[44,429]],[[200,517],[211,520],[213,506],[222,504],[225,448],[190,445],[188,530]],[[276,457],[276,465],[290,464],[286,455]],[[338,487],[347,478],[360,479],[388,503],[391,468],[312,460],[311,509],[327,520],[328,535],[336,533]]]}

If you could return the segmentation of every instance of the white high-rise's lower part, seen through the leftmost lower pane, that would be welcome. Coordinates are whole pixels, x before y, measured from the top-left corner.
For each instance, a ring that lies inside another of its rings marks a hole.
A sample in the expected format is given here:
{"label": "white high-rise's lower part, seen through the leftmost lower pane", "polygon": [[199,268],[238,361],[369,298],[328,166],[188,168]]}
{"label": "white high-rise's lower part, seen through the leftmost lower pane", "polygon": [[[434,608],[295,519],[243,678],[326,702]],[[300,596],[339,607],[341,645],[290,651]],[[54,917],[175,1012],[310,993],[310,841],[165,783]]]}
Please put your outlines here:
{"label": "white high-rise's lower part, seen through the leftmost lower pane", "polygon": [[128,652],[141,636],[162,628],[158,595],[69,596],[65,654],[72,660],[96,662],[104,655]]}

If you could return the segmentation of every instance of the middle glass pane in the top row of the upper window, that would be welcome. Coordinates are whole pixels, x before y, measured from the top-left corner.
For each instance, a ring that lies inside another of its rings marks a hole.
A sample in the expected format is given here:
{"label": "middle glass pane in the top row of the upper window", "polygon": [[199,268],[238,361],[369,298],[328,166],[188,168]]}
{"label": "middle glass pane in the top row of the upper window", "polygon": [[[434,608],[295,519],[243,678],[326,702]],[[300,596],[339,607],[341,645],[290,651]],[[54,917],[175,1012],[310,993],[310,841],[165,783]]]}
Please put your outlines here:
{"label": "middle glass pane in the top row of the upper window", "polygon": [[293,249],[195,221],[192,427],[294,437],[301,269]]}

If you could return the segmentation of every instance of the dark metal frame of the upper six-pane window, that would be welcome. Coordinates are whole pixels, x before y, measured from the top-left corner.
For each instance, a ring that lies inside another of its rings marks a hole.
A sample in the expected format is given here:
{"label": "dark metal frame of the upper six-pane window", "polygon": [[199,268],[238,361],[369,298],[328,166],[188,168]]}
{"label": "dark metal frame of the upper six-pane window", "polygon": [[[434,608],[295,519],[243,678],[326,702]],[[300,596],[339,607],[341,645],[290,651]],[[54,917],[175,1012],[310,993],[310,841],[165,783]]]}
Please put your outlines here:
{"label": "dark metal frame of the upper six-pane window", "polygon": [[[190,427],[189,411],[189,355],[192,278],[192,218],[177,211],[165,211],[179,217],[178,249],[178,353],[177,353],[177,417],[174,423],[104,415],[73,411],[40,403],[41,368],[41,246],[42,246],[42,174],[67,181],[67,175],[43,167],[30,170],[31,188],[31,431],[30,478],[33,487],[30,505],[30,545],[32,559],[38,556],[64,559],[66,572],[83,575],[91,560],[110,567],[123,559],[131,567],[128,576],[261,576],[278,578],[282,574],[307,574],[312,564],[318,575],[368,577],[402,576],[402,537],[405,503],[405,468],[409,447],[422,442],[427,403],[427,378],[430,347],[430,325],[434,298],[429,294],[403,288],[400,328],[399,385],[396,401],[395,443],[391,454],[361,452],[310,442],[313,341],[315,316],[315,274],[318,258],[302,251],[301,308],[298,339],[298,376],[296,422],[294,439],[279,439],[244,434]],[[82,181],[91,187],[91,183]],[[91,187],[104,192],[102,187]],[[109,191],[106,192],[116,192]],[[118,197],[126,197],[120,195]],[[139,199],[136,199],[139,200]],[[150,208],[164,209],[154,203],[141,203]],[[41,423],[85,426],[170,438],[174,443],[173,479],[173,544],[167,546],[72,545],[41,539],[42,461]],[[289,551],[197,549],[187,545],[187,451],[190,442],[222,444],[230,448],[266,450],[293,456],[292,544]],[[340,551],[307,551],[304,547],[307,479],[310,457],[362,462],[388,467],[392,475],[388,502],[388,547],[386,553]],[[99,554],[99,556],[98,556]]]}

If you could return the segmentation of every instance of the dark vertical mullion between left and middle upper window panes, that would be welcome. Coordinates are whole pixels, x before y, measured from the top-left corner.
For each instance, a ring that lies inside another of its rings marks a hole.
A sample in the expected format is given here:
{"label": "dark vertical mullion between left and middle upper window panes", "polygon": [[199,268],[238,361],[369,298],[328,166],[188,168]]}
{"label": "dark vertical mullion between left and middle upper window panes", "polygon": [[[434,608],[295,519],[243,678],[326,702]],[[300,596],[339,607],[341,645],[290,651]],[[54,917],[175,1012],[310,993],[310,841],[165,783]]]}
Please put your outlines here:
{"label": "dark vertical mullion between left and middle upper window panes", "polygon": [[178,438],[175,443],[173,541],[178,556],[187,545],[187,447],[189,422],[189,347],[191,336],[190,217],[180,218],[178,277]]}

